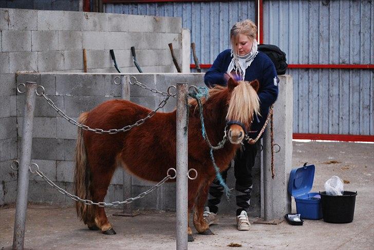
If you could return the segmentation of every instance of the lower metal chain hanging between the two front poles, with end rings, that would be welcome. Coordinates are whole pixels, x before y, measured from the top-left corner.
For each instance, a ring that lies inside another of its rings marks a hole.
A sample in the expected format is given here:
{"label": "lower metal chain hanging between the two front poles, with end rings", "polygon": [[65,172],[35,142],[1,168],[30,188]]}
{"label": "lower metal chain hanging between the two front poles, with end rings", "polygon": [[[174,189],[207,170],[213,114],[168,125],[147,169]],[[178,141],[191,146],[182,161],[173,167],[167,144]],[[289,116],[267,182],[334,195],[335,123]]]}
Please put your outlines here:
{"label": "lower metal chain hanging between the two front poles, with end rings", "polygon": [[[14,166],[14,163],[17,163],[18,165],[18,161],[13,161],[12,162],[12,169],[13,166]],[[32,166],[35,166],[36,168],[33,170]],[[61,194],[65,195],[65,196],[68,196],[70,197],[72,200],[74,201],[80,201],[86,205],[97,205],[97,206],[101,206],[101,207],[106,207],[106,206],[119,206],[121,204],[127,204],[127,203],[131,203],[135,200],[138,200],[138,199],[141,199],[143,198],[144,196],[148,195],[149,193],[152,193],[152,191],[156,190],[157,188],[159,188],[162,184],[164,184],[167,180],[169,179],[175,179],[177,177],[177,175],[175,175],[174,177],[172,177],[170,174],[169,174],[169,171],[170,170],[173,170],[175,173],[176,173],[176,170],[175,168],[169,168],[167,169],[167,172],[166,172],[166,176],[165,178],[163,178],[159,183],[157,183],[156,185],[154,185],[153,187],[149,188],[148,190],[144,191],[143,193],[141,193],[140,195],[136,196],[136,197],[132,197],[132,198],[127,198],[126,200],[124,201],[115,201],[115,202],[110,202],[110,203],[106,203],[106,202],[94,202],[94,201],[91,201],[91,200],[84,200],[84,199],[81,199],[79,198],[78,196],[76,195],[72,195],[70,194],[68,191],[66,191],[65,189],[59,187],[57,184],[55,184],[53,181],[51,181],[48,177],[46,177],[44,175],[44,173],[42,171],[39,170],[39,166],[38,164],[36,163],[32,163],[30,166],[29,166],[29,170],[32,174],[38,174],[40,177],[42,177],[50,186],[54,187],[55,189],[57,189]],[[196,171],[196,170],[195,170]],[[197,172],[196,172],[196,176],[197,176]],[[196,179],[196,178],[195,178]]]}

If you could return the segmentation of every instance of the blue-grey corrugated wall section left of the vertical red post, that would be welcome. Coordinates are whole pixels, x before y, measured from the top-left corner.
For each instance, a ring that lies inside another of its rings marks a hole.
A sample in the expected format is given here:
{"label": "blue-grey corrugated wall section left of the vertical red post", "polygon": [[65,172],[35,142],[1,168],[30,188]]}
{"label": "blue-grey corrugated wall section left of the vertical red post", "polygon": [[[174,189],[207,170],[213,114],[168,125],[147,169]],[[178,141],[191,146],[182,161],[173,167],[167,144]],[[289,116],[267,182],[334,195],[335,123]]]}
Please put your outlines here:
{"label": "blue-grey corrugated wall section left of the vertical red post", "polygon": [[230,48],[232,25],[247,18],[254,21],[255,1],[106,4],[105,12],[182,17],[199,62],[211,64],[219,52]]}

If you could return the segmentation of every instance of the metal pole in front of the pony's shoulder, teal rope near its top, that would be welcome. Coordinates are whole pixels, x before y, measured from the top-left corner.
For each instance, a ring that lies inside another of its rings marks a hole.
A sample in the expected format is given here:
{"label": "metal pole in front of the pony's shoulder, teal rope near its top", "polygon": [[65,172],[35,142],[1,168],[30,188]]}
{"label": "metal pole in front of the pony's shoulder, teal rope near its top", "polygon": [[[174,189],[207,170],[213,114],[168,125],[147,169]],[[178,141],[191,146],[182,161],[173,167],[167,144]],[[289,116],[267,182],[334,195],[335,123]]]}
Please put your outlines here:
{"label": "metal pole in front of the pony's shoulder, teal rope near its top", "polygon": [[177,250],[187,249],[188,227],[188,130],[186,94],[188,84],[177,84]]}

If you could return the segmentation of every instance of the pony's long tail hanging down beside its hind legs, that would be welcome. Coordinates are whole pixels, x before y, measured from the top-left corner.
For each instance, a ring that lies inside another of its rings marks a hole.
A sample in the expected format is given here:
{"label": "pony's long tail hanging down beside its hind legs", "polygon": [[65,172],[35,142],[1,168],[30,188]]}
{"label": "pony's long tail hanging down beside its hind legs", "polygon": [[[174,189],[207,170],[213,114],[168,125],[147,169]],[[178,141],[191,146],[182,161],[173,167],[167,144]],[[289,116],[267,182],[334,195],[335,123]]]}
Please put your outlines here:
{"label": "pony's long tail hanging down beside its hind legs", "polygon": [[[78,122],[85,124],[88,112],[84,112],[79,116]],[[78,138],[75,153],[76,170],[74,175],[74,192],[79,198],[86,200],[90,199],[90,171],[87,166],[86,147],[83,140],[83,129],[78,127]],[[92,206],[86,205],[80,201],[76,201],[77,215],[85,224],[93,216]]]}

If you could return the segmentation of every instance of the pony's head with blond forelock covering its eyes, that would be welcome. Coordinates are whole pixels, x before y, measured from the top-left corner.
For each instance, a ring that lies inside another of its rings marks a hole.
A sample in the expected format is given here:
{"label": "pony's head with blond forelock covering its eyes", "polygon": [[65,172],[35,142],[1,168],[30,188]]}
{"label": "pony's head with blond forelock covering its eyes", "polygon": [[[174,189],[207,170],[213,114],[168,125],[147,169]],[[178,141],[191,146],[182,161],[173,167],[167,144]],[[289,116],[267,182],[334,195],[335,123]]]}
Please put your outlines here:
{"label": "pony's head with blond forelock covering its eyes", "polygon": [[226,116],[227,136],[231,143],[239,144],[246,137],[253,114],[260,115],[257,95],[259,83],[257,80],[236,82],[230,78],[227,85],[229,90],[229,107]]}

